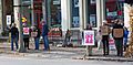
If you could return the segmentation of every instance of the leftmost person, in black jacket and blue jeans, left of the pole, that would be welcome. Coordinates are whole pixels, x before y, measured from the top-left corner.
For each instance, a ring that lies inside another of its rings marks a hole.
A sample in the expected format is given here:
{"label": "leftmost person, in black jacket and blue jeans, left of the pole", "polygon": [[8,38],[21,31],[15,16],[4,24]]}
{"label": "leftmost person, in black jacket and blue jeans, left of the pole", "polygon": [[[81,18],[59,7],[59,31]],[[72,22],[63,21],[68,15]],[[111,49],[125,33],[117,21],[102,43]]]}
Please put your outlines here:
{"label": "leftmost person, in black jacket and blue jeans, left of the pole", "polygon": [[12,28],[11,28],[11,51],[14,50],[13,48],[13,42],[16,42],[17,50],[19,48],[18,40],[19,40],[19,31],[18,31],[18,28],[16,28],[16,23],[12,23]]}

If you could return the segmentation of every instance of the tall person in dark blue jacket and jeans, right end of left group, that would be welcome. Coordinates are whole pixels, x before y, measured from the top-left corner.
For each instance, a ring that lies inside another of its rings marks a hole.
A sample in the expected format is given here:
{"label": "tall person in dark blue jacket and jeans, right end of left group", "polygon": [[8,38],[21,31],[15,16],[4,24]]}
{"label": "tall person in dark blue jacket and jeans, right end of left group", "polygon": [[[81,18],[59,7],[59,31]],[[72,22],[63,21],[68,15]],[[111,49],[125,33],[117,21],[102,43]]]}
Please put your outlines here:
{"label": "tall person in dark blue jacket and jeans, right end of left group", "polygon": [[49,28],[47,25],[47,22],[43,21],[42,22],[42,37],[43,37],[43,41],[44,41],[44,51],[50,50],[48,33],[49,33]]}

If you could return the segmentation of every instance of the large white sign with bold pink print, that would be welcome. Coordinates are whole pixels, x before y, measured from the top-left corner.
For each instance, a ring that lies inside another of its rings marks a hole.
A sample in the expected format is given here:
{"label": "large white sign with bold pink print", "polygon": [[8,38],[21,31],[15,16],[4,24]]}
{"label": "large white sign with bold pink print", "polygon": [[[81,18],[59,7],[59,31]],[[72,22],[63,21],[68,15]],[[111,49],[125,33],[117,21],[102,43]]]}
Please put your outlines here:
{"label": "large white sign with bold pink print", "polygon": [[94,31],[83,31],[82,45],[94,45]]}

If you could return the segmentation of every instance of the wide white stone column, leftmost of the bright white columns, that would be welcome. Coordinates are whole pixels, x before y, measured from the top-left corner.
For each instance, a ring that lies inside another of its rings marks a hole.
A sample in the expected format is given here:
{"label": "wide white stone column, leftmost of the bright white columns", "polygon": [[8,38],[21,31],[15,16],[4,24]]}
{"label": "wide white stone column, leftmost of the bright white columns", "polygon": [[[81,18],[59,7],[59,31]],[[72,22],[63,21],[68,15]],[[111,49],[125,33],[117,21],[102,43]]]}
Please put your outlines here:
{"label": "wide white stone column, leftmost of the bright white columns", "polygon": [[62,31],[66,31],[70,29],[70,22],[71,22],[71,0],[61,0],[61,14],[62,14]]}

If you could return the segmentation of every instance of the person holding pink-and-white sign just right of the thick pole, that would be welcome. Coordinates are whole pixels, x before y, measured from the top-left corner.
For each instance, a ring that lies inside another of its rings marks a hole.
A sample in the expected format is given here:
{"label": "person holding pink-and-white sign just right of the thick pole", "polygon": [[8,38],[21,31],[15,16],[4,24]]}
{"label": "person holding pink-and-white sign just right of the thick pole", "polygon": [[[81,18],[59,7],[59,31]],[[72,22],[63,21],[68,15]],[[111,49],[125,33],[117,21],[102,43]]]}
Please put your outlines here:
{"label": "person holding pink-and-white sign just right of the thick pole", "polygon": [[23,23],[23,42],[24,42],[24,47],[29,48],[29,37],[30,37],[30,29],[27,26],[25,23]]}

